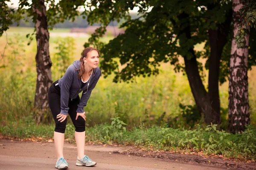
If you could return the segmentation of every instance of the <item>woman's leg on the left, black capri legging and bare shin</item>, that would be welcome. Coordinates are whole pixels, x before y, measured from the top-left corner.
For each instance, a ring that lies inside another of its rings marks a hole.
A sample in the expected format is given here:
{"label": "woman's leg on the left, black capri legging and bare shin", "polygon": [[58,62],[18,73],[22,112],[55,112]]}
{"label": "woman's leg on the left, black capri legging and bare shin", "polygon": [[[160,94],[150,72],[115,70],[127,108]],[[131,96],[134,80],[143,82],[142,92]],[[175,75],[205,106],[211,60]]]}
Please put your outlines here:
{"label": "woman's leg on the left, black capri legging and bare shin", "polygon": [[58,159],[63,157],[64,133],[66,129],[67,119],[60,122],[57,115],[61,112],[61,95],[59,86],[55,83],[51,85],[48,91],[49,108],[51,109],[53,119],[55,121],[54,144]]}

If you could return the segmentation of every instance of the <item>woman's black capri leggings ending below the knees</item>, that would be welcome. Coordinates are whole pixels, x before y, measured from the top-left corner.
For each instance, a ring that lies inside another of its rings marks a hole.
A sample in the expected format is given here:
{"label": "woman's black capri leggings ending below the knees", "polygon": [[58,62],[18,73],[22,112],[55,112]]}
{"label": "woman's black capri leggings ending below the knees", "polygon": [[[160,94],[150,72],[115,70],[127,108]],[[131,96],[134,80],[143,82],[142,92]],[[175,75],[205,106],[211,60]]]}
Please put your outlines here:
{"label": "woman's black capri leggings ending below the knees", "polygon": [[[65,133],[67,119],[64,120],[64,122],[58,121],[57,115],[61,112],[61,88],[59,85],[56,85],[58,83],[58,80],[49,88],[48,91],[48,101],[49,101],[49,107],[52,111],[52,116],[55,121],[55,132],[59,133]],[[68,114],[70,115],[70,118],[76,127],[76,132],[84,132],[85,131],[85,121],[81,116],[78,116],[76,119],[76,109],[77,105],[79,104],[80,98],[77,96],[76,99],[69,99],[68,101],[68,107],[69,111]]]}

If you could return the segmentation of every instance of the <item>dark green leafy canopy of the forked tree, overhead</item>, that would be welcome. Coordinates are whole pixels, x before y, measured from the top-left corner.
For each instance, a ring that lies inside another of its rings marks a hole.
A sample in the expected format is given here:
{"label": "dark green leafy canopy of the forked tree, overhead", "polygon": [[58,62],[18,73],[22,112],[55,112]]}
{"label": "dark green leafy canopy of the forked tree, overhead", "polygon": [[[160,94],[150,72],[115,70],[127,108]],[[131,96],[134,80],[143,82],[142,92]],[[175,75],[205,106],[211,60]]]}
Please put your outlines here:
{"label": "dark green leafy canopy of the forked tree, overhead", "polygon": [[[92,4],[94,3],[97,1],[93,0]],[[136,19],[126,17],[127,9],[134,7],[139,8],[140,17]],[[149,8],[151,8],[150,11],[148,11]],[[221,8],[214,0],[99,3],[98,8],[89,12],[88,21],[91,24],[102,22],[102,29],[92,34],[84,47],[92,44],[102,51],[104,57],[101,62],[102,73],[105,77],[114,73],[116,75],[114,82],[129,82],[134,81],[135,77],[159,74],[161,62],[174,65],[174,70],[177,72],[183,71],[184,65],[180,63],[180,56],[188,59],[194,55],[197,58],[209,57],[208,46],[206,51],[192,49],[197,44],[208,42],[208,30],[215,30],[218,24],[224,23],[226,14],[230,10],[230,5]],[[125,34],[104,44],[99,41],[99,37],[103,35],[105,26],[112,18],[126,19],[120,26],[126,28]],[[188,34],[192,36],[189,35],[189,37]],[[119,70],[119,62],[123,65],[122,70]],[[223,66],[223,69],[227,70],[227,65]],[[198,62],[198,68],[204,78],[201,62]],[[221,79],[224,81],[225,77]]]}

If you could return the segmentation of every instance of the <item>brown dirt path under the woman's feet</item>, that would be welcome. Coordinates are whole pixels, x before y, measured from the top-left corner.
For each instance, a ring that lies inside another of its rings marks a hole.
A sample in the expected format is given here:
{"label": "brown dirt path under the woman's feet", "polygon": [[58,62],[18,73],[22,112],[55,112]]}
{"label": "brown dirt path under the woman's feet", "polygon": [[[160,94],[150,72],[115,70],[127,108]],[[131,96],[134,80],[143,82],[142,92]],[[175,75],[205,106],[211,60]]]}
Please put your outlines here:
{"label": "brown dirt path under the woman's feet", "polygon": [[[86,146],[85,153],[97,161],[96,167],[77,167],[76,147],[73,144],[64,144],[64,156],[70,164],[69,170],[232,170],[214,165],[132,156],[128,155],[125,149]],[[55,161],[54,143],[0,140],[0,170],[55,170]]]}

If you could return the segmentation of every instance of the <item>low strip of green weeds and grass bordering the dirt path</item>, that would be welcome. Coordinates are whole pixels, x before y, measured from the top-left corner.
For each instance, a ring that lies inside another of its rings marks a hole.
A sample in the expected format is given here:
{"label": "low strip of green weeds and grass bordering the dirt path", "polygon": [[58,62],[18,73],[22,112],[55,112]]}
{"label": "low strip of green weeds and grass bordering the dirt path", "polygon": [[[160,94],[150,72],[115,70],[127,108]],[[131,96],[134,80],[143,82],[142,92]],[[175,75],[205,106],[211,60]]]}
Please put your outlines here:
{"label": "low strip of green weeds and grass bordering the dirt path", "polygon": [[[231,134],[217,130],[217,125],[197,126],[195,130],[172,129],[143,124],[126,131],[124,123],[114,118],[113,125],[102,124],[86,129],[86,141],[106,144],[134,144],[148,149],[180,150],[185,152],[201,152],[224,155],[231,158],[256,159],[256,129],[247,127],[241,134]],[[121,127],[119,125],[122,125]],[[18,139],[41,137],[47,140],[53,137],[54,125],[35,125],[34,122],[20,120],[1,126],[0,133]],[[75,128],[67,125],[66,141],[75,142]]]}

